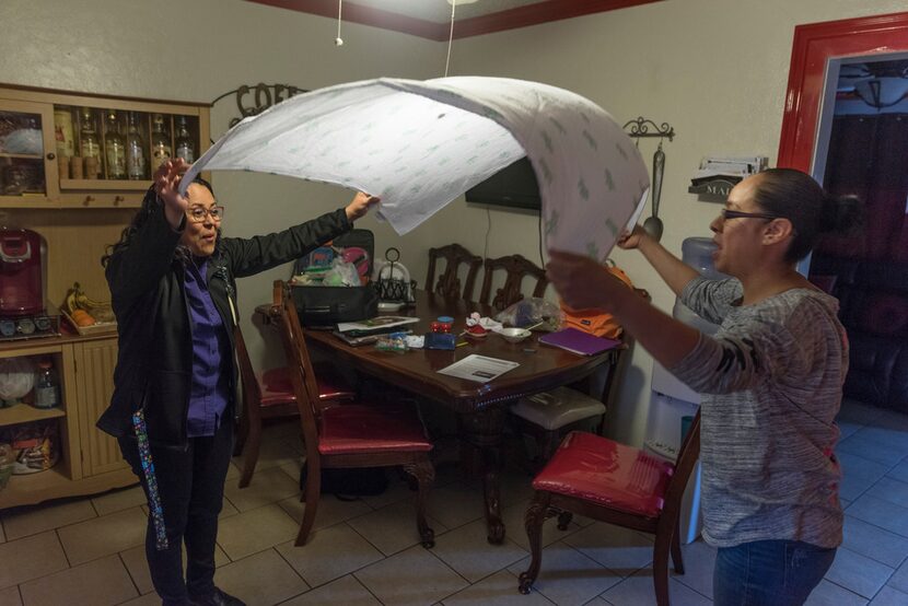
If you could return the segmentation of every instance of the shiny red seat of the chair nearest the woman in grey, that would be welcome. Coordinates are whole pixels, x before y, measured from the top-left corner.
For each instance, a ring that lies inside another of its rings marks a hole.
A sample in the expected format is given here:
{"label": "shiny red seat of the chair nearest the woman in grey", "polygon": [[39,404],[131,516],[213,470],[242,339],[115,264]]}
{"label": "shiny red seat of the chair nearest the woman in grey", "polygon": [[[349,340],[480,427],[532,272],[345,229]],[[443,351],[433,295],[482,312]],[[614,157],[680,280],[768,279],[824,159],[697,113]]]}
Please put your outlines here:
{"label": "shiny red seat of the chair nearest the woman in grey", "polygon": [[564,438],[533,488],[656,517],[674,473],[673,464],[639,448],[575,431]]}

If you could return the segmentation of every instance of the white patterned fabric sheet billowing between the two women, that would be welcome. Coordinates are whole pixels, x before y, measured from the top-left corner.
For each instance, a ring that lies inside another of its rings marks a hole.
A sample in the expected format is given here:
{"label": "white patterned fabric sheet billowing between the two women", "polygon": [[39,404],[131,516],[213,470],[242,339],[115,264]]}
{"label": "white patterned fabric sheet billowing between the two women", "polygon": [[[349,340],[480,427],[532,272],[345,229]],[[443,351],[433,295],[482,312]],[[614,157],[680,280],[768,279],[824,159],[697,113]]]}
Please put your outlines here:
{"label": "white patterned fabric sheet billowing between the two women", "polygon": [[403,235],[524,155],[546,246],[604,260],[643,208],[645,163],[604,109],[537,82],[377,79],[296,95],[237,124],[183,183],[240,170],[342,185],[380,196]]}

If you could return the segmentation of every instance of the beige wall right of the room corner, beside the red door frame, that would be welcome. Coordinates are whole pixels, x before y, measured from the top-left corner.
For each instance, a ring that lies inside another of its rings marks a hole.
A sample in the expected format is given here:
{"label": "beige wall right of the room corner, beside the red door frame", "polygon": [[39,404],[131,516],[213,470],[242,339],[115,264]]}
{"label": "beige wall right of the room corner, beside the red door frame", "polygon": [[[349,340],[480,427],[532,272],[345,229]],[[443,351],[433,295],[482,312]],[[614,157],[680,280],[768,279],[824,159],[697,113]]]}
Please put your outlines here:
{"label": "beige wall right of the room corner, beside the red door frame", "polygon": [[[664,145],[660,214],[663,243],[679,254],[685,237],[709,235],[718,212],[687,194],[701,156],[759,154],[775,165],[794,26],[905,10],[904,0],[667,0],[455,40],[451,74],[536,80],[591,98],[621,124],[640,115],[670,123],[677,137]],[[651,163],[655,141],[640,149]],[[491,220],[490,256],[538,259],[535,215],[491,211]],[[461,200],[417,230],[409,246],[456,241],[481,254],[486,225],[486,210]],[[420,257],[404,257],[411,258],[424,279]],[[614,258],[671,312],[674,296],[639,254],[617,250]],[[609,427],[619,440],[640,443],[652,360],[638,348],[632,362]]]}

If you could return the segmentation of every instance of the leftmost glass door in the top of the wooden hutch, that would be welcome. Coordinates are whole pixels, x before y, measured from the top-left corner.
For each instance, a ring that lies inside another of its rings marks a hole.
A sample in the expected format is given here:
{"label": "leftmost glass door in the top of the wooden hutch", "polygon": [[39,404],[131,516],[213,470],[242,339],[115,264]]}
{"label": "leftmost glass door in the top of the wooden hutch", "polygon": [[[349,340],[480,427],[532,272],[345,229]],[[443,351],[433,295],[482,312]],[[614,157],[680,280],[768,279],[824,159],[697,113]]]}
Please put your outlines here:
{"label": "leftmost glass door in the top of the wooden hutch", "polygon": [[53,106],[0,101],[0,202],[22,206],[59,194]]}

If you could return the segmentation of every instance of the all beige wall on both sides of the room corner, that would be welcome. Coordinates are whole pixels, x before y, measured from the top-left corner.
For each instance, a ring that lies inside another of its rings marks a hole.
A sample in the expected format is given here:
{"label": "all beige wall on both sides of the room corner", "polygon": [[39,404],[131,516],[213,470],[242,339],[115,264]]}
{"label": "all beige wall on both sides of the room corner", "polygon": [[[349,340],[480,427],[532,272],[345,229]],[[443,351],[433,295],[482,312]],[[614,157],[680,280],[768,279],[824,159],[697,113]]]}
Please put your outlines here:
{"label": "all beige wall on both sides of the room corner", "polygon": [[[537,80],[590,97],[621,123],[638,115],[671,123],[677,138],[665,145],[661,214],[663,242],[678,252],[683,238],[708,234],[717,212],[686,193],[701,156],[761,154],[775,163],[794,26],[900,10],[904,0],[667,0],[455,40],[451,74]],[[380,75],[435,78],[443,70],[445,44],[345,24],[346,44],[337,49],[334,28],[328,19],[240,0],[2,0],[0,82],[210,101],[244,83],[314,89]],[[231,105],[216,107],[216,137]],[[654,142],[640,147],[649,160]],[[218,174],[214,186],[229,207],[226,231],[235,235],[278,230],[348,198],[336,187],[247,174]],[[400,248],[420,285],[426,249],[436,244],[539,260],[533,214],[457,200],[403,238],[371,217],[361,223],[375,231],[380,254],[392,244]],[[615,258],[660,307],[671,308],[670,292],[638,255]],[[266,366],[275,359],[248,318],[268,300],[271,280],[287,272],[240,287],[251,348]],[[621,404],[610,412],[622,440],[642,438],[651,365],[644,352],[635,353]]]}

